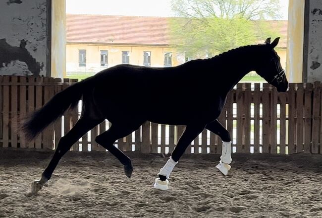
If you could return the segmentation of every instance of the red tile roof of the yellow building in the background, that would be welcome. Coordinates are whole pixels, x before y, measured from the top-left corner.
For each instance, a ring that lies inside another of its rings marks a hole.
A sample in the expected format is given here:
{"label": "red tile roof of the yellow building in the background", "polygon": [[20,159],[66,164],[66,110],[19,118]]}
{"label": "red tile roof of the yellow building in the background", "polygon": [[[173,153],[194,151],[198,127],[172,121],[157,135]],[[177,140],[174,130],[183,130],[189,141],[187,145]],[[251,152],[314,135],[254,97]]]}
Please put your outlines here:
{"label": "red tile roof of the yellow building in the background", "polygon": [[[67,14],[67,43],[168,45],[169,19],[169,17]],[[279,47],[286,47],[287,21],[265,22],[268,22],[268,28],[272,31],[279,31],[278,35],[281,37]],[[259,43],[264,43],[261,37]]]}

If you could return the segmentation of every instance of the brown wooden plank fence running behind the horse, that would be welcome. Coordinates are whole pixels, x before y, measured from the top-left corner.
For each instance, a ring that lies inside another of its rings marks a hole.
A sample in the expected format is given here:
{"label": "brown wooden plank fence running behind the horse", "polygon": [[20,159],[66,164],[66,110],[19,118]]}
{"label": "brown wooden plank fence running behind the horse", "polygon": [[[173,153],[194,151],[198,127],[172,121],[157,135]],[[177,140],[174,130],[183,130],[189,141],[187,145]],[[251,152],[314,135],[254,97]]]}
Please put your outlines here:
{"label": "brown wooden plank fence running behind the horse", "polygon": [[[66,112],[28,143],[17,131],[19,120],[75,81],[0,76],[0,147],[54,149],[59,138],[77,121],[81,107]],[[321,82],[290,83],[286,93],[278,93],[267,83],[238,83],[229,93],[224,111],[219,117],[232,136],[233,152],[322,153],[321,87]],[[105,151],[95,142],[95,137],[106,131],[108,126],[108,121],[101,123],[71,149]],[[176,145],[183,130],[183,126],[146,122],[133,134],[118,140],[115,146],[123,151],[168,153]],[[205,130],[189,145],[186,152],[221,153],[221,140]]]}

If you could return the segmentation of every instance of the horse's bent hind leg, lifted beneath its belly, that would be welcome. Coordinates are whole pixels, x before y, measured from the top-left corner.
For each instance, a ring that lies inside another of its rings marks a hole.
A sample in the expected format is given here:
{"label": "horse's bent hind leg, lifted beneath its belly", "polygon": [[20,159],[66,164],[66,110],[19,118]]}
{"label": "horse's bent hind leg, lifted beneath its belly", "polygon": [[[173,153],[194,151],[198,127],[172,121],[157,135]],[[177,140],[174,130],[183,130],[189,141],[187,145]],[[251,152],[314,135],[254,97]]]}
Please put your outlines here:
{"label": "horse's bent hind leg, lifted beneath its belly", "polygon": [[123,165],[124,173],[127,177],[131,177],[133,166],[131,159],[126,156],[120,149],[113,144],[116,140],[126,137],[135,130],[137,130],[143,122],[136,122],[134,124],[115,123],[101,135],[97,136],[95,141],[113,154]]}

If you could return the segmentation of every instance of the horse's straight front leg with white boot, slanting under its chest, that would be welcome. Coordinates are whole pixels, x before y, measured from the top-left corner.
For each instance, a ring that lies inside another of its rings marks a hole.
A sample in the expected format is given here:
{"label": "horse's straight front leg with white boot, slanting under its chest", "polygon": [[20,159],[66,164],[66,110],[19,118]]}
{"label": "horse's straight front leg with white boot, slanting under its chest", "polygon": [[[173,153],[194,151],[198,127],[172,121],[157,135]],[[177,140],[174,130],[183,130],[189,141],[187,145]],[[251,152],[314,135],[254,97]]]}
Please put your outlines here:
{"label": "horse's straight front leg with white boot, slanting under its chest", "polygon": [[189,125],[186,127],[182,136],[180,137],[178,144],[173,149],[169,160],[160,169],[158,173],[159,178],[156,178],[154,187],[161,190],[167,190],[168,178],[172,172],[174,166],[178,163],[178,160],[188,147],[188,145],[205,129],[204,124]]}

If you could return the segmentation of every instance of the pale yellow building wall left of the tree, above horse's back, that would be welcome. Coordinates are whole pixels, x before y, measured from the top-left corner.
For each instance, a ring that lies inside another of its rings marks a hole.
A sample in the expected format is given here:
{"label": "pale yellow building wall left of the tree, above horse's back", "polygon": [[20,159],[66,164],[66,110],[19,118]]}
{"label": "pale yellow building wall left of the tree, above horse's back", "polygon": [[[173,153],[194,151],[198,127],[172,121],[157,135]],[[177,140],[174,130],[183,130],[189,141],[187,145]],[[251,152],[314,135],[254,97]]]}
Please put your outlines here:
{"label": "pale yellow building wall left of the tree, above horse's back", "polygon": [[[79,50],[86,50],[86,67],[78,66]],[[96,45],[96,44],[72,44],[66,45],[66,71],[67,72],[99,72],[106,67],[101,67],[101,50],[107,50],[108,67],[122,63],[122,51],[130,52],[132,65],[143,65],[143,52],[151,52],[151,66],[163,67],[164,53],[172,53],[172,66],[183,63],[184,58],[177,54],[174,49],[160,46],[126,46],[126,45]]]}

